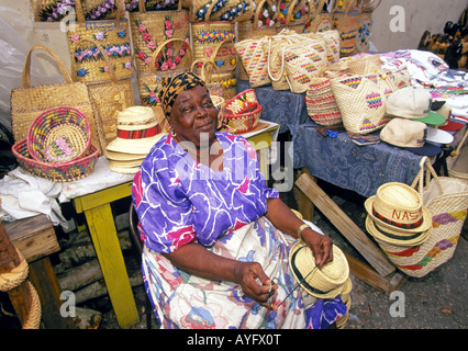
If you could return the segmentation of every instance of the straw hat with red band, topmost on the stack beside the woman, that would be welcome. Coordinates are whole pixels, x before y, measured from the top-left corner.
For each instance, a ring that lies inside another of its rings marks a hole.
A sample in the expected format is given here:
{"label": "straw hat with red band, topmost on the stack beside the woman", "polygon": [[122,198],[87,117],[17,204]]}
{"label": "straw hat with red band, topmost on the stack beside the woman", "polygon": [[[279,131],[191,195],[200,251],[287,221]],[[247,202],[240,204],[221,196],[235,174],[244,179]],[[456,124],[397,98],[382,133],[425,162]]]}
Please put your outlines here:
{"label": "straw hat with red band, topmost on the stack beside the woman", "polygon": [[113,152],[147,155],[159,133],[156,114],[163,110],[148,106],[131,106],[118,113],[116,138],[109,143],[107,150]]}

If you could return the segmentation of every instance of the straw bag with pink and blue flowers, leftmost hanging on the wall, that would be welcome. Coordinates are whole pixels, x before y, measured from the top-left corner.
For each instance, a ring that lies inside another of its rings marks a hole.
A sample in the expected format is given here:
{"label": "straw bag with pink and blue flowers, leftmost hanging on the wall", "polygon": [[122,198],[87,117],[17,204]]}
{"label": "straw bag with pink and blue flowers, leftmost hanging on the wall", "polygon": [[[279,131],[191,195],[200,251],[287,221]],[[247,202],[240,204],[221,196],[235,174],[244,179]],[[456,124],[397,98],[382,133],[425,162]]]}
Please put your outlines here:
{"label": "straw bag with pink and blue flowers, leftmost hanging on the wall", "polygon": [[[81,3],[79,0],[76,3],[78,22],[75,31],[67,31],[74,80],[86,83],[110,81],[110,68],[105,64],[104,55],[110,58],[114,73],[119,79],[131,77],[133,64],[129,22],[123,18],[122,5],[119,8],[114,20],[85,21]],[[99,43],[105,53],[102,54],[90,43],[78,44],[83,39]]]}

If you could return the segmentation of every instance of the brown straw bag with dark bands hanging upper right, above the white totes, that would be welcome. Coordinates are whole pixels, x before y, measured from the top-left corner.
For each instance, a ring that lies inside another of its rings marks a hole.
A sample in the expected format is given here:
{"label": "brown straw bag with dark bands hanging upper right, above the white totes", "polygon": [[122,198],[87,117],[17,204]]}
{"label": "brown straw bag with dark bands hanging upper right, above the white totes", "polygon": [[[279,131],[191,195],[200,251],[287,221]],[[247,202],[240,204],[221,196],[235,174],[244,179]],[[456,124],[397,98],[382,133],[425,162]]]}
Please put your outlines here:
{"label": "brown straw bag with dark bands hanging upper right, above the white totes", "polygon": [[359,20],[360,13],[333,13],[333,29],[339,33],[339,57],[355,52]]}

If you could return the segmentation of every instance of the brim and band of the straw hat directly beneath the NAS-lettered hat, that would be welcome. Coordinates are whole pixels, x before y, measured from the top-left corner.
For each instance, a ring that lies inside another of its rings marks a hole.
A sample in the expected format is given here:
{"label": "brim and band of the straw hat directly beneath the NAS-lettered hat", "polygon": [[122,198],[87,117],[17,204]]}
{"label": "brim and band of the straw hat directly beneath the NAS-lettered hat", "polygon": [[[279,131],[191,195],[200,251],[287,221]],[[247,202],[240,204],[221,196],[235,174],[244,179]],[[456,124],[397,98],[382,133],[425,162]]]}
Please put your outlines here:
{"label": "brim and band of the straw hat directly beneath the NAS-lettered hat", "polygon": [[385,242],[399,247],[415,247],[427,240],[432,233],[432,226],[424,231],[415,233],[412,236],[402,236],[399,231],[382,228],[369,215],[366,217],[367,231],[379,242]]}

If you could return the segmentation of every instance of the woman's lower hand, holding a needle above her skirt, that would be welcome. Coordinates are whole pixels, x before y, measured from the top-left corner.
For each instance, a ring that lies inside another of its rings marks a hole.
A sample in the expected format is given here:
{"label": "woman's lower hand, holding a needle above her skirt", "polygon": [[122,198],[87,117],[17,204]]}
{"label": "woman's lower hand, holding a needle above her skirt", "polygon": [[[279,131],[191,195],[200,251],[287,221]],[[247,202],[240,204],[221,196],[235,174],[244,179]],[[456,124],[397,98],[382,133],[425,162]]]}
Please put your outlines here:
{"label": "woman's lower hand, holding a needle above her skirt", "polygon": [[271,279],[264,272],[258,262],[237,261],[234,267],[234,276],[235,282],[241,285],[247,297],[253,298],[268,309],[277,309],[268,299],[275,294],[278,285],[271,282]]}

